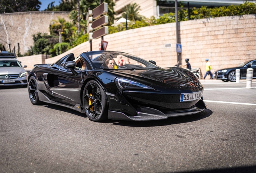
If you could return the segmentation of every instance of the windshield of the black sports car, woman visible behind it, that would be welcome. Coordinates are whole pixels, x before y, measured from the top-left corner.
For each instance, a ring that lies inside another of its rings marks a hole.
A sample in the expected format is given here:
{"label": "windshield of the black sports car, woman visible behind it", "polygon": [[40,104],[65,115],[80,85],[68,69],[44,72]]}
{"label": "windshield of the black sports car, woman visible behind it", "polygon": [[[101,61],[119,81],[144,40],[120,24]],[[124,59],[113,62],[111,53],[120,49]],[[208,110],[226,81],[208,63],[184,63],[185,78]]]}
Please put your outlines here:
{"label": "windshield of the black sports car, woman visible behind it", "polygon": [[158,68],[155,64],[122,52],[95,52],[87,54],[94,68],[109,70],[136,70]]}

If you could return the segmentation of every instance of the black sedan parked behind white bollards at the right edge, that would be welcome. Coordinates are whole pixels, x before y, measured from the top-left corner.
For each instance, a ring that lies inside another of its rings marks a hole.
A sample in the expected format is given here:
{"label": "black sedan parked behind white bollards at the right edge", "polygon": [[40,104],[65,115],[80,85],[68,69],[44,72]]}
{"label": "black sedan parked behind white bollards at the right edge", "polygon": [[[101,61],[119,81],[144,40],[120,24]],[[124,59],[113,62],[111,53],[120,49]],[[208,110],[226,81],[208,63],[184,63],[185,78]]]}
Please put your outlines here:
{"label": "black sedan parked behind white bollards at the right edge", "polygon": [[216,79],[221,79],[224,82],[235,82],[235,70],[240,69],[240,79],[246,79],[246,70],[247,68],[253,68],[253,78],[256,78],[256,60],[248,60],[239,64],[236,67],[224,68],[217,70],[213,73],[213,77]]}

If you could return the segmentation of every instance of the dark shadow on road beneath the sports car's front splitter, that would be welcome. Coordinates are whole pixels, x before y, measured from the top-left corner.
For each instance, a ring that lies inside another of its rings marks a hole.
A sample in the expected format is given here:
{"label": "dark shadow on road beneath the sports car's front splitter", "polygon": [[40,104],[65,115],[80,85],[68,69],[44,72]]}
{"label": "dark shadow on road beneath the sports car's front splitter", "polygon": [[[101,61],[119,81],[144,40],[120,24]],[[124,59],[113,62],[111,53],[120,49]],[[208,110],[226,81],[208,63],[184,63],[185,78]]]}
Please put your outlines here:
{"label": "dark shadow on road beneath the sports car's front splitter", "polygon": [[169,117],[168,119],[156,120],[156,121],[119,121],[117,123],[113,123],[113,125],[130,126],[130,127],[166,126],[166,125],[198,121],[200,119],[209,117],[212,114],[213,114],[213,111],[211,111],[210,109],[206,109],[194,115],[186,115],[181,117]]}

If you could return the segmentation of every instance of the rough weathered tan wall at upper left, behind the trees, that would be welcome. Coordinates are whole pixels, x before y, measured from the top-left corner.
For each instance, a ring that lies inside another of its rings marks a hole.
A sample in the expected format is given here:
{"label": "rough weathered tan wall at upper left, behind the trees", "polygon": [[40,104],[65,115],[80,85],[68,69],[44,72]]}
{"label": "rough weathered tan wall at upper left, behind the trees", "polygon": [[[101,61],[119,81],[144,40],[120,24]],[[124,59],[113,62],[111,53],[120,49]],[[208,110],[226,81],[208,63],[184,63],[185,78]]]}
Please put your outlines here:
{"label": "rough weathered tan wall at upper left, behind the trees", "polygon": [[[70,21],[69,12],[16,12],[0,14],[0,44],[6,50],[11,51],[15,46],[15,53],[18,54],[18,43],[20,53],[33,46],[32,34],[37,32],[49,33],[49,25],[52,20],[58,17]],[[10,44],[10,49],[9,45]]]}

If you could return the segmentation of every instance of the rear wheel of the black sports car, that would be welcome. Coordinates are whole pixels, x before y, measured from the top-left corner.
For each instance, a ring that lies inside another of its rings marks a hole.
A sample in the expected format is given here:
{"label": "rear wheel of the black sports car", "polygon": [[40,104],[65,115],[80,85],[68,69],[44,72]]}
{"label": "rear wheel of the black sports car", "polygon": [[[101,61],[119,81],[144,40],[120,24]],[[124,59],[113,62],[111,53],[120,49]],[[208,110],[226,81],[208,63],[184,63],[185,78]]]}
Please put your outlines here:
{"label": "rear wheel of the black sports car", "polygon": [[39,101],[38,93],[37,93],[37,82],[34,76],[31,76],[29,79],[28,85],[29,91],[29,99],[33,105],[39,105],[41,101]]}

